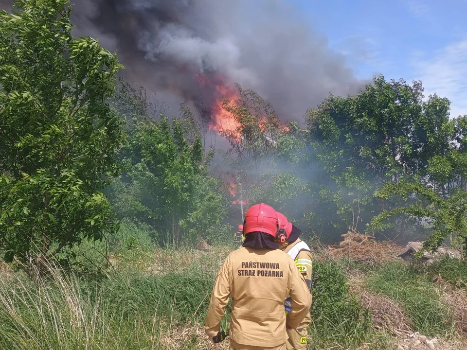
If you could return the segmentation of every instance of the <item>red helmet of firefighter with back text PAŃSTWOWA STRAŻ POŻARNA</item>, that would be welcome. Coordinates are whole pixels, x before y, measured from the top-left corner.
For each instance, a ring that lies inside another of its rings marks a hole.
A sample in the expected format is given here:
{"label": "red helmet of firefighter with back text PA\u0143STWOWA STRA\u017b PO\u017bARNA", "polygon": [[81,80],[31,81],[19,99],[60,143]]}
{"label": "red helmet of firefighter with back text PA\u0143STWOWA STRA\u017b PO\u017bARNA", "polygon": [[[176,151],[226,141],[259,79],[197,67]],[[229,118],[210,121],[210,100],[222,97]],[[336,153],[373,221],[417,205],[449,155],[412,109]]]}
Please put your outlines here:
{"label": "red helmet of firefighter with back text PA\u0143STWOWA STRA\u017b PO\u017bARNA", "polygon": [[276,237],[279,228],[276,211],[264,203],[255,204],[245,214],[243,234],[264,232]]}

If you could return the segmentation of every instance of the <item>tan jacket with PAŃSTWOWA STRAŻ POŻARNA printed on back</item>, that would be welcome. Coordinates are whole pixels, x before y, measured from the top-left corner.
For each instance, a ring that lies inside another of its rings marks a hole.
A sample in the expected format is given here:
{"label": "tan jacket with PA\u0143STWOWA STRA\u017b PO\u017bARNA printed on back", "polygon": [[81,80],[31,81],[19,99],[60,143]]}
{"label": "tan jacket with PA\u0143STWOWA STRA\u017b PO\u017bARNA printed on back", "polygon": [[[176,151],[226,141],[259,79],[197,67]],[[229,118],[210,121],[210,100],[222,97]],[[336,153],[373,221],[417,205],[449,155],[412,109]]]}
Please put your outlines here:
{"label": "tan jacket with PA\u0143STWOWA STRA\u017b PO\u017bARNA printed on back", "polygon": [[224,262],[211,297],[206,332],[218,332],[224,308],[232,297],[230,337],[247,346],[275,347],[286,342],[284,301],[292,311],[287,325],[297,328],[308,313],[311,296],[293,260],[281,250],[242,247]]}

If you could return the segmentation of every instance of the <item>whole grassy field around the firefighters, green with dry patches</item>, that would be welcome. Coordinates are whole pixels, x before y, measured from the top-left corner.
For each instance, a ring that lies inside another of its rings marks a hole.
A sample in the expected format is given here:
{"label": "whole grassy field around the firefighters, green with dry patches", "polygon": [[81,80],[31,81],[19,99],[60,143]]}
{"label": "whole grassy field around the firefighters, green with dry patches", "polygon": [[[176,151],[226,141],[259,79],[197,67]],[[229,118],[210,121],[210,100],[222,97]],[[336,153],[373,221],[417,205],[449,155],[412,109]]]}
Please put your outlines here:
{"label": "whole grassy field around the firefighters, green with dry patches", "polygon": [[[55,267],[37,283],[3,271],[0,349],[210,349],[201,326],[216,272],[233,247],[161,248],[151,234],[124,224],[107,244],[75,251],[78,272]],[[376,327],[385,320],[368,296],[400,308],[407,331],[459,342],[462,318],[443,286],[465,295],[466,271],[463,262],[448,259],[430,268],[400,262],[349,268],[318,254],[308,346],[397,349],[398,334]],[[228,341],[217,348],[226,347]]]}

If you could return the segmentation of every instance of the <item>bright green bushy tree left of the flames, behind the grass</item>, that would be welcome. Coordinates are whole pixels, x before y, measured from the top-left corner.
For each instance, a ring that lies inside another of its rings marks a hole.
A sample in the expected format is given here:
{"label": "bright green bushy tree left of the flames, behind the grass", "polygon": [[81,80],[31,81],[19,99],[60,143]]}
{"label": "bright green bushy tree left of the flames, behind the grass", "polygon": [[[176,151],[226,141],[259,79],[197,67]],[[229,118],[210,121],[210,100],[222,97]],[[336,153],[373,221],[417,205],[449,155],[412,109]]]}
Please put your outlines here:
{"label": "bright green bushy tree left of the flames, behind the grass", "polygon": [[173,244],[226,234],[228,203],[208,169],[214,151],[205,155],[191,110],[182,104],[172,123],[163,114],[154,119],[155,104],[125,82],[112,101],[132,120],[121,153],[126,172],[109,192],[119,217],[171,232]]}

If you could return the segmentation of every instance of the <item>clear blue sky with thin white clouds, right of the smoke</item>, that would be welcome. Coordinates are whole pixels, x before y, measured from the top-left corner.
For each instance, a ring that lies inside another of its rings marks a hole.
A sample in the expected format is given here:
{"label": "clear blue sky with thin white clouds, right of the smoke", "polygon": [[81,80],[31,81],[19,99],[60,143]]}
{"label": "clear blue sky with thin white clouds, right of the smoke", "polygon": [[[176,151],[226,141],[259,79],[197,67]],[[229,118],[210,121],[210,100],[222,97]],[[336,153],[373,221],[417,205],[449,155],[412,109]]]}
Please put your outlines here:
{"label": "clear blue sky with thin white clouds, right of the smoke", "polygon": [[359,78],[420,79],[467,114],[467,0],[291,0]]}

